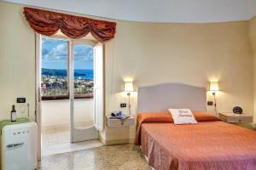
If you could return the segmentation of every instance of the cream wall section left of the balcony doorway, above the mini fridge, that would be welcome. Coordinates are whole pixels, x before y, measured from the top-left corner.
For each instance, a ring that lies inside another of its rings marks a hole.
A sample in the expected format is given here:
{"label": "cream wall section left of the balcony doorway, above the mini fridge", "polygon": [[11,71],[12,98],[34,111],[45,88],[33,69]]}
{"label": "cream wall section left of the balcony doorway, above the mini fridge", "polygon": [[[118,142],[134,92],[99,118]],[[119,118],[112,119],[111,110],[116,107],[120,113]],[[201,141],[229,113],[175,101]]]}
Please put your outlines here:
{"label": "cream wall section left of the balcony doorway, above the mini fridge", "polygon": [[[9,118],[17,97],[35,112],[35,33],[26,24],[22,8],[0,1],[0,120]],[[18,110],[17,110],[18,111]]]}

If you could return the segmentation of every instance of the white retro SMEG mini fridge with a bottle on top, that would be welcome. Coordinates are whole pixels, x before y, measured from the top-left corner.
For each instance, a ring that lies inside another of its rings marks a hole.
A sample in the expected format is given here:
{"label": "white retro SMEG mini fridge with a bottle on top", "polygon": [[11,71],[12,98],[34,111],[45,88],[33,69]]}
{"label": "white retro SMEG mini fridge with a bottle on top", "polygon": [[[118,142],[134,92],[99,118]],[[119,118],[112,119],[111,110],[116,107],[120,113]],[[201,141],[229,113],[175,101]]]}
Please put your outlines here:
{"label": "white retro SMEG mini fridge with a bottle on top", "polygon": [[7,125],[1,135],[1,169],[37,168],[38,126],[35,122]]}

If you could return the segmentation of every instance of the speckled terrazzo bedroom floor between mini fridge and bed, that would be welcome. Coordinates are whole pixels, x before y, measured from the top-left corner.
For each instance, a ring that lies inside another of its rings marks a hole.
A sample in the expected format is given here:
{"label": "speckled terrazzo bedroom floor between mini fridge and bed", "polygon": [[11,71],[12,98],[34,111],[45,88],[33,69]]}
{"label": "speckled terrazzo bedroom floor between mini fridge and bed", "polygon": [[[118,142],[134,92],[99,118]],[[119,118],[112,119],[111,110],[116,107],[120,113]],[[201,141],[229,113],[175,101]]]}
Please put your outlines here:
{"label": "speckled terrazzo bedroom floor between mini fridge and bed", "polygon": [[139,147],[119,144],[43,156],[38,170],[150,170],[150,167]]}

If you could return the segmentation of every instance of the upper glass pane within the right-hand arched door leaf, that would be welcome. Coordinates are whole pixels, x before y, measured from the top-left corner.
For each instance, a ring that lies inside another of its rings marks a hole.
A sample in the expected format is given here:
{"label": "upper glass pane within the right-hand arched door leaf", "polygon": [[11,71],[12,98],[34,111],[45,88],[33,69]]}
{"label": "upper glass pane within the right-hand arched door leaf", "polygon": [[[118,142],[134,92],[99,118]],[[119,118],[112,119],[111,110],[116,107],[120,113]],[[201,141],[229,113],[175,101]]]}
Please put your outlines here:
{"label": "upper glass pane within the right-hand arched door leaf", "polygon": [[93,97],[93,48],[87,45],[73,46],[74,95]]}

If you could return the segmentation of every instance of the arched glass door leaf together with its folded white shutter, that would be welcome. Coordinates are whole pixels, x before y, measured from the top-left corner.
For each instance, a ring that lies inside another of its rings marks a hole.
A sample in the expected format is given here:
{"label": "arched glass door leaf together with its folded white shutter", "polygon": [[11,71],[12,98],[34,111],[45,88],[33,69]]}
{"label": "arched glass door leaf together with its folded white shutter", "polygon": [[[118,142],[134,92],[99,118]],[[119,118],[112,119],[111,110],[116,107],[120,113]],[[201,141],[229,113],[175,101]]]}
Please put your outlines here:
{"label": "arched glass door leaf together with its folded white shutter", "polygon": [[70,139],[71,142],[98,139],[103,123],[102,45],[73,40],[70,47]]}

